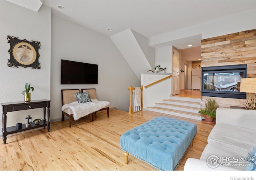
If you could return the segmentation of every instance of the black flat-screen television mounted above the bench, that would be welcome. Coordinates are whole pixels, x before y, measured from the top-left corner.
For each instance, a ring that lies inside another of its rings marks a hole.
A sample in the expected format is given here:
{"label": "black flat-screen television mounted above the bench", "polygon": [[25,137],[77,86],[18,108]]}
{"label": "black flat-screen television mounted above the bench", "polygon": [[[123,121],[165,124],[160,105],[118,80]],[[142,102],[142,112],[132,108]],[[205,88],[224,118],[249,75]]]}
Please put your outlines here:
{"label": "black flat-screen television mounted above the bench", "polygon": [[60,84],[98,84],[98,64],[61,60]]}

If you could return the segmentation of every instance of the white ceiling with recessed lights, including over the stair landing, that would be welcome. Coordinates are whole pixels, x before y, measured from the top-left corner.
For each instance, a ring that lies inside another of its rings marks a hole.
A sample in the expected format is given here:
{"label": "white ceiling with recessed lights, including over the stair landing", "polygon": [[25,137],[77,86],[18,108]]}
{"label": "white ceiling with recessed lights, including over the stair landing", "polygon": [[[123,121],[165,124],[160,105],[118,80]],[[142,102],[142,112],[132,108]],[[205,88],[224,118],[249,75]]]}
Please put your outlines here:
{"label": "white ceiling with recessed lights, including over the stair landing", "polygon": [[[45,4],[52,8],[52,14],[107,36],[130,28],[149,39],[256,8],[255,0],[8,1],[34,11]],[[200,36],[194,36],[172,43],[178,49],[185,49],[188,44],[200,46],[200,40]]]}

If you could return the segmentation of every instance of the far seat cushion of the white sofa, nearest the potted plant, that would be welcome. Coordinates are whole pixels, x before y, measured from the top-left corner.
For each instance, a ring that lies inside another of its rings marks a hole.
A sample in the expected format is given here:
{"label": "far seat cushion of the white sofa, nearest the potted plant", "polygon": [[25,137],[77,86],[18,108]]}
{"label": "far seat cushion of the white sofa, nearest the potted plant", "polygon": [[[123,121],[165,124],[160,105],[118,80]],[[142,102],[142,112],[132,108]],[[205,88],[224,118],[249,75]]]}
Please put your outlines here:
{"label": "far seat cushion of the white sofa, nearest the potted plant", "polygon": [[248,150],[256,144],[256,130],[216,124],[208,136],[208,143],[216,141],[242,150]]}

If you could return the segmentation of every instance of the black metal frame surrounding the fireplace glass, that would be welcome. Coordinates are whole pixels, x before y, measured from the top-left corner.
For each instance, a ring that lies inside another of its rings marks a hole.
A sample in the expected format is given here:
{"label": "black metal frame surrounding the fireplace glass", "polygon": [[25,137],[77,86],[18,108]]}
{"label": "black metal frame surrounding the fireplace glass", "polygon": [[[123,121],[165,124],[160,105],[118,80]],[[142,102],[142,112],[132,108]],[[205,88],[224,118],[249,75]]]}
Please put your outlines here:
{"label": "black metal frame surrounding the fireplace glass", "polygon": [[233,91],[212,91],[204,89],[204,74],[205,73],[228,73],[239,72],[243,74],[243,78],[247,78],[247,64],[228,65],[228,66],[211,66],[202,67],[202,82],[201,82],[201,95],[220,98],[235,98],[246,99],[245,92],[233,92]]}

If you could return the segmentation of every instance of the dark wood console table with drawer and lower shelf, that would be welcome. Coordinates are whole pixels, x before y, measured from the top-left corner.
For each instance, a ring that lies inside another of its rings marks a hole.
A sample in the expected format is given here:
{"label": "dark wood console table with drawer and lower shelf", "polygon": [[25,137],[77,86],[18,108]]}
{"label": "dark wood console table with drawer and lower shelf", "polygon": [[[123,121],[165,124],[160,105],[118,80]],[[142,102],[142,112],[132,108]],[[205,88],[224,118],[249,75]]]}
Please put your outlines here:
{"label": "dark wood console table with drawer and lower shelf", "polygon": [[[1,106],[2,106],[2,112],[3,112],[2,138],[3,138],[4,144],[6,144],[6,139],[8,134],[13,134],[16,132],[22,132],[22,131],[31,130],[34,128],[40,128],[40,127],[44,127],[45,129],[45,126],[47,126],[47,131],[50,132],[50,100],[33,100],[30,102],[24,102],[24,101],[6,102],[6,103],[1,103]],[[22,124],[21,129],[16,129],[16,126],[11,126],[6,128],[7,112],[28,110],[28,109],[35,109],[35,108],[44,108],[44,118],[43,118],[43,121],[40,122],[40,124],[36,125],[34,122],[32,122],[29,127],[26,127],[25,124]],[[47,108],[47,122],[45,119],[46,108]]]}

